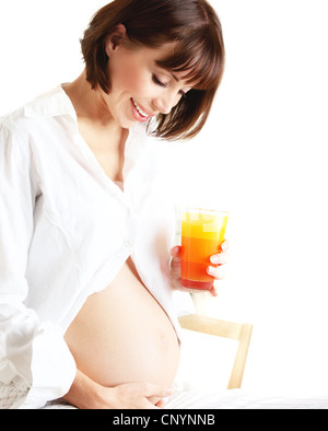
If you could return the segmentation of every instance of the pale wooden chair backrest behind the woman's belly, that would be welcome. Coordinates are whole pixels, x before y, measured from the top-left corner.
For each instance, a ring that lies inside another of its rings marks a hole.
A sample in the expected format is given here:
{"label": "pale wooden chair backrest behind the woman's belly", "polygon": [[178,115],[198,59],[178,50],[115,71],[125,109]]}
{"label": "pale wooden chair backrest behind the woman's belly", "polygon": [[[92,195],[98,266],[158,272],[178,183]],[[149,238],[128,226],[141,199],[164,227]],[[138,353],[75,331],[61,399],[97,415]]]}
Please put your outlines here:
{"label": "pale wooden chair backrest behind the woman's belly", "polygon": [[241,388],[251,338],[253,325],[220,321],[218,318],[200,314],[187,314],[180,316],[179,323],[184,329],[196,330],[198,333],[238,341],[227,388]]}

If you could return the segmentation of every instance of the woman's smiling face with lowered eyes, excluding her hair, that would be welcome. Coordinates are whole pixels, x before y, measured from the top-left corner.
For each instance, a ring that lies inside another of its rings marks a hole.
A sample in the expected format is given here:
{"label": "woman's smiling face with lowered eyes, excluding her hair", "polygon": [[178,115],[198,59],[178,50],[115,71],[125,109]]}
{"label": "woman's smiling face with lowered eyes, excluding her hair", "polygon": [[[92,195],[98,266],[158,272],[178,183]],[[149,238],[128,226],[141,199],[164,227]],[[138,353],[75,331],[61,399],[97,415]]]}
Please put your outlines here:
{"label": "woman's smiling face with lowered eyes, excluding her hair", "polygon": [[169,114],[190,90],[183,73],[172,73],[157,66],[173,48],[173,44],[165,44],[157,49],[130,49],[108,40],[112,90],[109,94],[103,93],[103,101],[122,128],[130,128],[136,121],[147,123],[159,114]]}

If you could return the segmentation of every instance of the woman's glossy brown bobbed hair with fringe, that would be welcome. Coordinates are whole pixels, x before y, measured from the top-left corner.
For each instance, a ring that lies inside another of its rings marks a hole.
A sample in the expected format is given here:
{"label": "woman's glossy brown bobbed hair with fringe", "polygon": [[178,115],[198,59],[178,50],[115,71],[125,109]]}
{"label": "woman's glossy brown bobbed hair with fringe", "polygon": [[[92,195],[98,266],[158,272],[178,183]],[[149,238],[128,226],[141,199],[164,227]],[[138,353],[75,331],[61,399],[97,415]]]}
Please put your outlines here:
{"label": "woman's glossy brown bobbed hair with fringe", "polygon": [[[224,43],[218,15],[206,0],[114,0],[92,19],[81,39],[86,79],[108,94],[107,37],[119,25],[132,46],[160,47],[176,42],[173,56],[159,61],[187,72],[194,83],[169,114],[160,114],[152,133],[165,139],[192,138],[203,127],[224,69]],[[196,83],[196,85],[195,85]]]}

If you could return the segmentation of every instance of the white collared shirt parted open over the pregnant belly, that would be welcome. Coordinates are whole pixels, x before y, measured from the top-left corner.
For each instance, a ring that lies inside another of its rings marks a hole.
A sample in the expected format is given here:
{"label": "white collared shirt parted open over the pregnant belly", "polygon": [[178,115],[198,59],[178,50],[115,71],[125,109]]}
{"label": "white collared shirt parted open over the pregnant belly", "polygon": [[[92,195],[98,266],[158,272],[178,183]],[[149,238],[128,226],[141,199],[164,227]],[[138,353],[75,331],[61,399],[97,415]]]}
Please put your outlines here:
{"label": "white collared shirt parted open over the pregnant belly", "polygon": [[131,129],[122,191],[79,133],[61,86],[0,120],[0,385],[28,386],[17,407],[69,391],[77,370],[63,334],[129,256],[178,331],[175,213],[161,170],[169,147],[142,125]]}

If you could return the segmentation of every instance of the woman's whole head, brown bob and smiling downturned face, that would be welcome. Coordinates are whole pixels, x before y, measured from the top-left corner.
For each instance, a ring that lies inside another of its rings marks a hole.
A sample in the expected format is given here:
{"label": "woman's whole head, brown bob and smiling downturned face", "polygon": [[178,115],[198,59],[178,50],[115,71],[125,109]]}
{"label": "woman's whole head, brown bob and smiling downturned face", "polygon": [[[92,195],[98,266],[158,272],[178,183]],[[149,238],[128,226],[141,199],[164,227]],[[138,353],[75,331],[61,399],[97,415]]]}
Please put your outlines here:
{"label": "woman's whole head, brown bob and smiling downturned face", "polygon": [[103,91],[97,96],[105,116],[130,127],[164,113],[148,123],[148,133],[165,140],[191,139],[203,128],[225,59],[221,23],[207,0],[110,1],[93,16],[81,48],[86,82]]}

